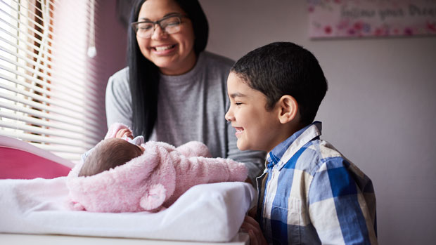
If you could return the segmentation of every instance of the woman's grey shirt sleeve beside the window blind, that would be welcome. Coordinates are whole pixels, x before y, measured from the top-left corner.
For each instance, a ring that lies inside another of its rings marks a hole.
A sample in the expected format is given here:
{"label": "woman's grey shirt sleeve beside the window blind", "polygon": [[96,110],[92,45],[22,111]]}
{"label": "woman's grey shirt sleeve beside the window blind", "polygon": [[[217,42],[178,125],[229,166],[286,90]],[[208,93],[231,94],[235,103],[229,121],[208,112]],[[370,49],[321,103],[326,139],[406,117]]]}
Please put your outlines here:
{"label": "woman's grey shirt sleeve beside the window blind", "polygon": [[109,78],[106,86],[105,108],[108,127],[114,123],[122,123],[132,128],[132,95],[127,68]]}

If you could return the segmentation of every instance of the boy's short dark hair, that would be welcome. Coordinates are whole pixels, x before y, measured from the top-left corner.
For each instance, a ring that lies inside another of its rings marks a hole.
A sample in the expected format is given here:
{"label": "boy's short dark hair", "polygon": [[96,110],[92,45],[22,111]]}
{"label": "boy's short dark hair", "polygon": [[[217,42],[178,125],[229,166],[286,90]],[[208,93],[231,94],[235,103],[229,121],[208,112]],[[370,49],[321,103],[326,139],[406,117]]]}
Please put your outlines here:
{"label": "boy's short dark hair", "polygon": [[290,42],[275,42],[250,51],[231,67],[231,72],[250,88],[264,93],[267,110],[281,96],[293,96],[305,125],[314,121],[327,91],[326,77],[315,56]]}

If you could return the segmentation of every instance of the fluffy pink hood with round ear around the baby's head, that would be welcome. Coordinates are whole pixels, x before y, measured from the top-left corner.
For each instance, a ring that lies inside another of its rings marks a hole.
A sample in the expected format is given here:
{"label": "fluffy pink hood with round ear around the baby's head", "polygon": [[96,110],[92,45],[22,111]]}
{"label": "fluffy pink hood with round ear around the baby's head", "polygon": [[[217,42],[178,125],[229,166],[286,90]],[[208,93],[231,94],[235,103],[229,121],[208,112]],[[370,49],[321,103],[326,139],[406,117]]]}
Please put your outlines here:
{"label": "fluffy pink hood with round ear around the baby's head", "polygon": [[174,165],[161,161],[158,146],[143,144],[145,152],[121,166],[94,176],[78,176],[82,163],[68,174],[72,208],[94,212],[153,211],[172,196]]}

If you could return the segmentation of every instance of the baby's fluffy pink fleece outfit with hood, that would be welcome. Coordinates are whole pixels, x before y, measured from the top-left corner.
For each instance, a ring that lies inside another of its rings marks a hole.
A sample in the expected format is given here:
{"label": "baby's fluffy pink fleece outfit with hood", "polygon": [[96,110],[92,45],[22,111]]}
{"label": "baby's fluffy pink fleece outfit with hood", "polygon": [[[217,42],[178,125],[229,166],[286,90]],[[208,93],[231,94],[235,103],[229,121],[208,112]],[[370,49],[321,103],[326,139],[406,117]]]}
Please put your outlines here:
{"label": "baby's fluffy pink fleece outfit with hood", "polygon": [[[113,138],[122,124],[110,126],[105,138]],[[94,176],[79,177],[83,163],[67,178],[72,208],[94,212],[158,211],[167,208],[194,185],[244,181],[245,164],[210,158],[207,146],[189,142],[179,147],[148,141],[143,154],[126,164]]]}

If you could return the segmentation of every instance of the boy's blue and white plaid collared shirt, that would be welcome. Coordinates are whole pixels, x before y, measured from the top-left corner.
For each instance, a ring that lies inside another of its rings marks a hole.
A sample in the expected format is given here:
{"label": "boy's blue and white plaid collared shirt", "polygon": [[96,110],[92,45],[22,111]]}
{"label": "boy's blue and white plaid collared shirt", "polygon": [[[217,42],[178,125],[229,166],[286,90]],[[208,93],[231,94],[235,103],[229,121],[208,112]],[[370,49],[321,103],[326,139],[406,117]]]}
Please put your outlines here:
{"label": "boy's blue and white plaid collared shirt", "polygon": [[268,154],[257,217],[269,244],[378,244],[371,180],[324,140],[321,122]]}

